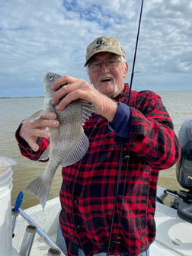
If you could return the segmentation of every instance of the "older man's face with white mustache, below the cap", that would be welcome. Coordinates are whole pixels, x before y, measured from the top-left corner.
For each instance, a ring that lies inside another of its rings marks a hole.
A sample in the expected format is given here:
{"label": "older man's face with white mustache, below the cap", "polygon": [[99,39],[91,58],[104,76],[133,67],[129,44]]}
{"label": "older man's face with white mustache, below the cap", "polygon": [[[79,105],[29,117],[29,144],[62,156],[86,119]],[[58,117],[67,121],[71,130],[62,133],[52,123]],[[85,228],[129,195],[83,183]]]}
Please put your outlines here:
{"label": "older man's face with white mustache, below the cap", "polygon": [[116,68],[110,69],[105,64],[110,62],[111,59],[120,60],[120,56],[107,52],[95,54],[91,59],[91,63],[95,64],[94,67],[101,66],[101,68],[98,71],[91,71],[90,64],[88,75],[94,88],[108,97],[114,98],[123,91],[128,65],[127,63],[119,62]]}

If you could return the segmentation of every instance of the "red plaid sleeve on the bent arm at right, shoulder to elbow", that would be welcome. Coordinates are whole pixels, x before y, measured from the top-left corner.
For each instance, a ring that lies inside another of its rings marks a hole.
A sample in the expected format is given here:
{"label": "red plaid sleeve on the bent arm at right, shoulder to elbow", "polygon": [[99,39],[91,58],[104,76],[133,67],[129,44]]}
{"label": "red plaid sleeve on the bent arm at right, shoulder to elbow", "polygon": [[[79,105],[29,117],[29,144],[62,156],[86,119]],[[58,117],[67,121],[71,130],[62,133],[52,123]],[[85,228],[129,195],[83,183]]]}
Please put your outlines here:
{"label": "red plaid sleeve on the bent arm at right, shoulder to elbow", "polygon": [[130,113],[128,148],[155,169],[167,169],[178,162],[180,142],[158,94],[152,91],[137,93]]}

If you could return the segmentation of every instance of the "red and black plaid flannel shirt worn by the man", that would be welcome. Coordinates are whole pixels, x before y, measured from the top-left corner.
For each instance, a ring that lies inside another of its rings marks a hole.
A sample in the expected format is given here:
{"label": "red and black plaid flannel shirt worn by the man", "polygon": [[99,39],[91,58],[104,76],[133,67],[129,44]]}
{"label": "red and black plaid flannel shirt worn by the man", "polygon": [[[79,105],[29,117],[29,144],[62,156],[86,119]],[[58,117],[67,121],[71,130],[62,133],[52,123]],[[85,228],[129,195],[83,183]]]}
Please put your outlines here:
{"label": "red and black plaid flannel shirt worn by the man", "polygon": [[[129,87],[116,99],[127,104]],[[90,145],[81,161],[62,168],[60,225],[69,256],[106,252],[117,189],[120,149],[123,161],[114,217],[110,254],[128,251],[139,255],[155,239],[155,197],[158,171],[178,161],[180,144],[161,98],[152,91],[132,91],[130,139],[116,136],[104,117],[94,114],[85,123]],[[47,146],[40,140],[35,153],[24,145],[21,152],[37,160]]]}

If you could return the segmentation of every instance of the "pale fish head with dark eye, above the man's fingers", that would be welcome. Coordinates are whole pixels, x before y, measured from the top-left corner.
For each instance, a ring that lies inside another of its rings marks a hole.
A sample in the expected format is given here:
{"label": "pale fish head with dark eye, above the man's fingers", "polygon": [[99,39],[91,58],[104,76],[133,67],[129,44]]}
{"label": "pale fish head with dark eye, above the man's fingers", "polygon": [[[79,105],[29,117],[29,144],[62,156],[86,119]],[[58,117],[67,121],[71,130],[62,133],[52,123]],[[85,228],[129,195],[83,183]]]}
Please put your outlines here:
{"label": "pale fish head with dark eye, above the man's fingers", "polygon": [[61,78],[62,76],[53,72],[47,73],[43,78],[43,85],[44,85],[44,92],[46,98],[52,98],[54,91],[51,89],[53,86],[53,83],[56,82],[58,78]]}

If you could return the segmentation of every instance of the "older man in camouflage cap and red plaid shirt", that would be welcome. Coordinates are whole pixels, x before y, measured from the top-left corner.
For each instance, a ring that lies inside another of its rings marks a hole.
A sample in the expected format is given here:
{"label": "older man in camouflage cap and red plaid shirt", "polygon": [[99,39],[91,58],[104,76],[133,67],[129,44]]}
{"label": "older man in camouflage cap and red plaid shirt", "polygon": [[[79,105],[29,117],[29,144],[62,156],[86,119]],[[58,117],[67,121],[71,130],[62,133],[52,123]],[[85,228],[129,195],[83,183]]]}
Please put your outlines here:
{"label": "older man in camouflage cap and red plaid shirt", "polygon": [[[58,110],[78,98],[95,106],[95,114],[84,125],[88,152],[62,168],[59,221],[68,254],[149,255],[155,239],[158,171],[178,161],[180,144],[157,94],[132,91],[127,105],[130,88],[123,80],[128,64],[116,38],[94,40],[85,66],[94,87],[68,75],[53,85]],[[55,114],[19,127],[16,136],[23,155],[40,157],[50,137],[47,126],[59,126]]]}

